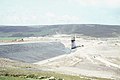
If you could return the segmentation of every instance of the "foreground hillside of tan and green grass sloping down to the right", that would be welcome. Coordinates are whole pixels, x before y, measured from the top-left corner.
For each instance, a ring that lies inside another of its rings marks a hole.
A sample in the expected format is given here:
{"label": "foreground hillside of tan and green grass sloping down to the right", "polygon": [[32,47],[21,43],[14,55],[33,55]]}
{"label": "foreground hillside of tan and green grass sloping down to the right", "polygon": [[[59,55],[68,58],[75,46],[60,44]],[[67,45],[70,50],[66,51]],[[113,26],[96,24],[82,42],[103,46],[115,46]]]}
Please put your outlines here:
{"label": "foreground hillside of tan and green grass sloping down to the right", "polygon": [[106,78],[73,76],[47,71],[43,67],[0,58],[0,80],[110,80]]}

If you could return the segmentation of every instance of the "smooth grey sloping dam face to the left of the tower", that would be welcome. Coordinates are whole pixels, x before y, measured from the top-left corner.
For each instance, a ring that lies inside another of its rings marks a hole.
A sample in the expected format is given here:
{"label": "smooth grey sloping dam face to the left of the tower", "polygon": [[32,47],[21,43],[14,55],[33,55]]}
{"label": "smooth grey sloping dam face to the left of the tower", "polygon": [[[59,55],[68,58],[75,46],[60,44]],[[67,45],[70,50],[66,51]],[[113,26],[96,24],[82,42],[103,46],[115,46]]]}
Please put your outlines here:
{"label": "smooth grey sloping dam face to the left of the tower", "polygon": [[0,57],[34,63],[68,53],[59,42],[0,45]]}

